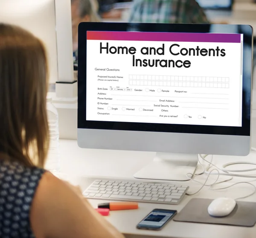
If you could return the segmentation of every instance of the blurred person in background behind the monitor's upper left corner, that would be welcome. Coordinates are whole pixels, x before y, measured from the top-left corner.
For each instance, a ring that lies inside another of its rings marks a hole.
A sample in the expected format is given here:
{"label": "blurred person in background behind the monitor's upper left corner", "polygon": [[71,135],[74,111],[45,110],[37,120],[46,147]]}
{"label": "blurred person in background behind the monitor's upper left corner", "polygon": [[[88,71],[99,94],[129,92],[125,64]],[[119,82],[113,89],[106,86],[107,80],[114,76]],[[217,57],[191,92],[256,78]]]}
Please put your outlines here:
{"label": "blurred person in background behind the monitor's upper left corner", "polygon": [[100,21],[96,9],[98,6],[96,0],[71,0],[74,64],[77,64],[78,25],[81,22]]}

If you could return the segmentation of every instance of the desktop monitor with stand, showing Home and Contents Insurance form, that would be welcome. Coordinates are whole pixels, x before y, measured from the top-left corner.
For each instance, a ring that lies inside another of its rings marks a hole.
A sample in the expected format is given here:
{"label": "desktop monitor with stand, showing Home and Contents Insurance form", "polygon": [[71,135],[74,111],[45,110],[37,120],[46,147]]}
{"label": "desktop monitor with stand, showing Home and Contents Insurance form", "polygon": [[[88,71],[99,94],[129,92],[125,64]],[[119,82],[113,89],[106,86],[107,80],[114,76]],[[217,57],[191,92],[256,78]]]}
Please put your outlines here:
{"label": "desktop monitor with stand, showing Home and Contents Insurance form", "polygon": [[252,35],[247,25],[80,23],[79,147],[155,151],[134,177],[161,180],[188,180],[197,154],[249,154]]}

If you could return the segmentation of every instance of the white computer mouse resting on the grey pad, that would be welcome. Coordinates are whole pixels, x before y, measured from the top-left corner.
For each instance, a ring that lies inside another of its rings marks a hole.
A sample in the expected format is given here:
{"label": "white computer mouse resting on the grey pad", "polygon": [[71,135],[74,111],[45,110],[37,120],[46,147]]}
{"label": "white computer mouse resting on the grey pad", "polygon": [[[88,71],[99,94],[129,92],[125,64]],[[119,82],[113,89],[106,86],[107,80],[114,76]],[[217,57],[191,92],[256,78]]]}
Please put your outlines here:
{"label": "white computer mouse resting on the grey pad", "polygon": [[230,215],[236,206],[236,201],[228,197],[219,197],[208,206],[208,213],[213,217],[225,217]]}

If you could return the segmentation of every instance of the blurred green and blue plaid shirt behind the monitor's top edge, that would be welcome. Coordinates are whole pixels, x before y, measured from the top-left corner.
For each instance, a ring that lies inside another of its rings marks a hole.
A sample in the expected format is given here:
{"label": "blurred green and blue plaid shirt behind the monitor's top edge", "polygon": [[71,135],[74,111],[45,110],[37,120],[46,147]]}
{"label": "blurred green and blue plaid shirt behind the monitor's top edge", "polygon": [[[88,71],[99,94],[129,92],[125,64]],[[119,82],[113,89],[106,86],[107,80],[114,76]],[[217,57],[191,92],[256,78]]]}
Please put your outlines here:
{"label": "blurred green and blue plaid shirt behind the monitor's top edge", "polygon": [[129,22],[209,23],[195,0],[134,0]]}

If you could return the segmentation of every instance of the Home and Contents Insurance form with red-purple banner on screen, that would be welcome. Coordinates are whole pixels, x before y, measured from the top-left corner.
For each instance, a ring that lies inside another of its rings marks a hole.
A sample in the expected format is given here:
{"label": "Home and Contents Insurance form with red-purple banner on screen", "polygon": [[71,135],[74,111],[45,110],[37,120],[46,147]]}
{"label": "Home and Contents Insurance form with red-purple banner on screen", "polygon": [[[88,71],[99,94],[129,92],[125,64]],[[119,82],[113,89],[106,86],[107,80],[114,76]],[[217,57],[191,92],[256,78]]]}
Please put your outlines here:
{"label": "Home and Contents Insurance form with red-purple banner on screen", "polygon": [[243,35],[87,32],[89,121],[241,127]]}

